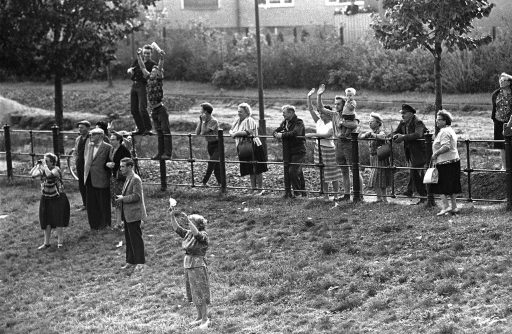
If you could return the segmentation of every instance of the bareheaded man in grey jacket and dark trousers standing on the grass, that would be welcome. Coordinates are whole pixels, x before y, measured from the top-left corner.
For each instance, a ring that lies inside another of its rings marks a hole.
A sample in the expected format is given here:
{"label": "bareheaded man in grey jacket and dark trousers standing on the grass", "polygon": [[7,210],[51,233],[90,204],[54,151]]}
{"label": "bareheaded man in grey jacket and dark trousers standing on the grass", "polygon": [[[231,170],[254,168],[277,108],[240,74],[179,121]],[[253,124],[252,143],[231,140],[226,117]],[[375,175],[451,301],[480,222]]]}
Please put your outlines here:
{"label": "bareheaded man in grey jacket and dark trousers standing on the grass", "polygon": [[126,239],[126,264],[121,269],[134,265],[136,271],[144,268],[144,241],[140,223],[146,218],[142,180],[133,172],[134,162],[131,158],[122,158],[119,171],[126,176],[123,191],[118,195],[116,202],[121,205],[121,220],[124,221],[124,238]]}

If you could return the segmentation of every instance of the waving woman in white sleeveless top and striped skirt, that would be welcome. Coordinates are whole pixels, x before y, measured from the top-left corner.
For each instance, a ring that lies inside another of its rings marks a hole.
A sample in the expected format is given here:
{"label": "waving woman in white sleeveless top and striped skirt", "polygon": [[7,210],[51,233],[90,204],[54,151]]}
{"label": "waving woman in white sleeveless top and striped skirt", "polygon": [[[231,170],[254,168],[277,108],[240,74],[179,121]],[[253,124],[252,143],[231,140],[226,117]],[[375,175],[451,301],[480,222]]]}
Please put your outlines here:
{"label": "waving woman in white sleeveless top and striped skirt", "polygon": [[[322,189],[324,190],[324,199],[329,200],[329,182],[332,182],[332,190],[334,192],[334,200],[338,200],[338,192],[339,192],[339,179],[342,176],[342,169],[339,166],[329,166],[335,165],[336,162],[336,148],[334,147],[334,134],[332,130],[332,116],[329,114],[320,114],[320,117],[313,110],[313,103],[311,102],[311,95],[315,92],[315,89],[312,88],[308,93],[308,110],[311,114],[311,118],[316,124],[316,133],[307,133],[306,137],[308,138],[324,138],[324,140],[320,141],[320,149],[322,152],[322,163],[328,166],[324,166],[324,181],[322,183]],[[324,106],[324,108],[332,109],[330,106]],[[318,143],[315,141],[315,149],[313,151],[313,160],[315,162],[315,169],[318,172],[322,171],[316,166],[320,163],[320,157],[318,153]]]}

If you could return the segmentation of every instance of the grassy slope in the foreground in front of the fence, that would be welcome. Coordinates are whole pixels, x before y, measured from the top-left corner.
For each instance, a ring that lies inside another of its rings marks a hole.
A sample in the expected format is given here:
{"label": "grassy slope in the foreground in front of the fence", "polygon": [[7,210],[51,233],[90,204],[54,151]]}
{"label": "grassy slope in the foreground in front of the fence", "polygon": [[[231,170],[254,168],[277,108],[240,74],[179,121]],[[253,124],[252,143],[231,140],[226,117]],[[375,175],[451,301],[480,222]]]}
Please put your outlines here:
{"label": "grassy slope in the foreground in front of the fence", "polygon": [[[182,250],[166,202],[209,220],[208,333],[508,333],[510,216],[247,199],[146,186],[147,268],[119,269],[123,234],[73,212],[65,247],[37,251],[37,181],[0,180],[0,333],[188,333]],[[73,204],[76,186],[67,184]],[[247,210],[245,210],[247,208]]]}

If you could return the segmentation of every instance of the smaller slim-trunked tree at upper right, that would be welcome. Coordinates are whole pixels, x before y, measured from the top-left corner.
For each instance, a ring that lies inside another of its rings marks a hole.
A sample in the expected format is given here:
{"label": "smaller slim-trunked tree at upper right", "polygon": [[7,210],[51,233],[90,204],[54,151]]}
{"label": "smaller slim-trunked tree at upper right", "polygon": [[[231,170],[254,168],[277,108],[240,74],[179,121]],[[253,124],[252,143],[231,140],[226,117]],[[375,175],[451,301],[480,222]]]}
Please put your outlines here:
{"label": "smaller slim-trunked tree at upper right", "polygon": [[[372,14],[375,38],[385,49],[426,49],[434,56],[436,102],[442,109],[441,55],[489,44],[490,35],[469,36],[473,19],[487,17],[494,7],[486,0],[383,0],[384,17]],[[436,129],[437,133],[437,129]]]}

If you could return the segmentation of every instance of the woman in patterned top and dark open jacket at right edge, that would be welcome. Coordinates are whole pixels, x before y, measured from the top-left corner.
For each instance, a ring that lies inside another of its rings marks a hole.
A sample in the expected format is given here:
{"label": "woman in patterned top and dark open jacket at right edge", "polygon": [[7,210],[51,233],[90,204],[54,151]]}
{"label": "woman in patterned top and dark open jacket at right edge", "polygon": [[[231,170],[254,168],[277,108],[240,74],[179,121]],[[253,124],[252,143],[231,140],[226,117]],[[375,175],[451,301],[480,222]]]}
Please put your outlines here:
{"label": "woman in patterned top and dark open jacket at right edge", "polygon": [[[493,93],[493,113],[490,118],[494,121],[494,140],[503,140],[503,124],[512,115],[512,76],[501,73],[500,88]],[[501,152],[501,170],[505,170],[505,147],[502,142],[495,142],[494,148]]]}

